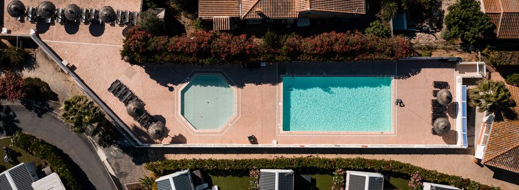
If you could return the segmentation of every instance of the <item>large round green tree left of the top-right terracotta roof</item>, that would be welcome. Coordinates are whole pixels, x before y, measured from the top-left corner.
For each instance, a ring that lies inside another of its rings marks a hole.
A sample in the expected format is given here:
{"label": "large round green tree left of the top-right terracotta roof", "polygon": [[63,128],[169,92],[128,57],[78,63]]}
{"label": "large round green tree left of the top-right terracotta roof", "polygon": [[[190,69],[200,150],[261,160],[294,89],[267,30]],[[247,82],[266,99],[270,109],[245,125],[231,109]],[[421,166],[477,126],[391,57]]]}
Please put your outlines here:
{"label": "large round green tree left of the top-right terracotta roof", "polygon": [[476,0],[460,0],[449,6],[448,10],[445,17],[447,31],[443,36],[461,38],[463,43],[473,45],[494,31],[490,17],[481,11]]}

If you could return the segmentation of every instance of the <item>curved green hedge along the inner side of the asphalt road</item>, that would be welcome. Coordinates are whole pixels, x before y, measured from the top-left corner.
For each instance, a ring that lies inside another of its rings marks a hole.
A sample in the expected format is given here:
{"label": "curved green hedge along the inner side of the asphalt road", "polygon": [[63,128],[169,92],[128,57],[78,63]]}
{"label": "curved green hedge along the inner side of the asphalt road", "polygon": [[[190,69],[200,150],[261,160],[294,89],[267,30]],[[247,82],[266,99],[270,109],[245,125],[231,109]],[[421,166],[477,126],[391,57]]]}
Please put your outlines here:
{"label": "curved green hedge along the inner side of the asphalt road", "polygon": [[48,161],[54,172],[59,175],[66,189],[81,189],[77,178],[71,171],[71,167],[67,165],[64,159],[66,155],[63,155],[64,153],[58,150],[56,146],[20,131],[12,136],[11,146],[22,148],[28,153]]}

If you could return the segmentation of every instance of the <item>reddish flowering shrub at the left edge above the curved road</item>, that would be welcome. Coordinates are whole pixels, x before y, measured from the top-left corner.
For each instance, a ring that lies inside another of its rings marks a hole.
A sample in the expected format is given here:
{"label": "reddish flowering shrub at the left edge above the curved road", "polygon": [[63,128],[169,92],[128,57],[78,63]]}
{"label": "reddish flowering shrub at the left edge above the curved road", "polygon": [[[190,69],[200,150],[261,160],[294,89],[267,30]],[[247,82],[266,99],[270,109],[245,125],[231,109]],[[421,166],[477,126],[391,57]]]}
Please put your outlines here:
{"label": "reddish flowering shrub at the left edge above the curved road", "polygon": [[7,72],[0,77],[0,98],[19,100],[24,97],[22,76]]}

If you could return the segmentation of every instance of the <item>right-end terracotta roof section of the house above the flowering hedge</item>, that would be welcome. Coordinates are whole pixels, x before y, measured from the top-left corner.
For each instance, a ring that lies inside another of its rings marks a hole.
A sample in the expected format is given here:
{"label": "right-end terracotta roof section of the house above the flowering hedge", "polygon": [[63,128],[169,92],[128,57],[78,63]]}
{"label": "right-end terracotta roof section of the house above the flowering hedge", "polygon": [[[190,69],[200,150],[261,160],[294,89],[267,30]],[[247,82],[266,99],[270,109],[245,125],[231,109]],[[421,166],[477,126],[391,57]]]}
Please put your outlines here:
{"label": "right-end terracotta roof section of the house above the flowering hedge", "polygon": [[364,0],[310,0],[310,10],[364,14],[366,2]]}

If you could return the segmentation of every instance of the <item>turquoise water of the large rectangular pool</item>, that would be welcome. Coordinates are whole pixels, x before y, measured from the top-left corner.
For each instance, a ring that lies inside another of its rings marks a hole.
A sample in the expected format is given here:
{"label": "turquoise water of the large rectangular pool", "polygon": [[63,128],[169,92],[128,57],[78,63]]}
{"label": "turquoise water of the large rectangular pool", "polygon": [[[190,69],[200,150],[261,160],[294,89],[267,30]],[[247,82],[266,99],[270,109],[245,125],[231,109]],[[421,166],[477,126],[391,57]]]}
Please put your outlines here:
{"label": "turquoise water of the large rectangular pool", "polygon": [[284,131],[391,131],[391,77],[283,77]]}

